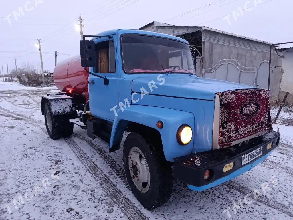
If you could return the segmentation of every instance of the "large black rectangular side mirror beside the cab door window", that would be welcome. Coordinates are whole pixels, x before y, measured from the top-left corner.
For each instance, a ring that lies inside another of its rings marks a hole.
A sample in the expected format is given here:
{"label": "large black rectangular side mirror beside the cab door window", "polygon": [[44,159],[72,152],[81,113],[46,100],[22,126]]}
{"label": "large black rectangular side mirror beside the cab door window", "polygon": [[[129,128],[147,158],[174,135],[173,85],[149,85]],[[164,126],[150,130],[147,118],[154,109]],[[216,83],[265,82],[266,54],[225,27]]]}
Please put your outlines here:
{"label": "large black rectangular side mirror beside the cab door window", "polygon": [[96,67],[95,41],[80,41],[80,58],[82,67]]}

